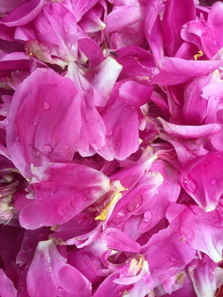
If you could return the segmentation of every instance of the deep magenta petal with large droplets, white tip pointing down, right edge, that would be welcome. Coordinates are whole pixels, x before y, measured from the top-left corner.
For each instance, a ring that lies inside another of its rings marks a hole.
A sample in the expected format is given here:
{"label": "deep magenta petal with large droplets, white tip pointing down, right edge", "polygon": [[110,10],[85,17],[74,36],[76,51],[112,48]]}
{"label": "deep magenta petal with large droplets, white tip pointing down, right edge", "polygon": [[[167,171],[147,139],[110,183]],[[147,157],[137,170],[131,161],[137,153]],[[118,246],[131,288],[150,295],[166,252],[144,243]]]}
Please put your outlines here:
{"label": "deep magenta petal with large droplets, white tip pointing down, right edge", "polygon": [[186,164],[179,175],[184,190],[206,212],[216,208],[223,193],[223,174],[218,170],[222,163],[222,151],[209,152]]}

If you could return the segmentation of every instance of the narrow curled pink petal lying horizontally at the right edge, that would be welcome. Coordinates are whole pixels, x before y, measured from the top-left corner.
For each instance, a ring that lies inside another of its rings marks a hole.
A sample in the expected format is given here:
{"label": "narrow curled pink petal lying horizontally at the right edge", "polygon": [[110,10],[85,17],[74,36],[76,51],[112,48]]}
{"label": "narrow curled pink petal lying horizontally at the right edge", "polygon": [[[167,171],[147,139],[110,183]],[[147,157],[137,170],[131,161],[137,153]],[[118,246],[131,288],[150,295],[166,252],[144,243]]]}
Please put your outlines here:
{"label": "narrow curled pink petal lying horizontally at the right edge", "polygon": [[221,129],[221,126],[217,123],[207,124],[203,126],[183,126],[170,124],[160,117],[158,118],[158,120],[161,122],[164,130],[169,135],[184,139],[203,137],[209,134],[217,133]]}

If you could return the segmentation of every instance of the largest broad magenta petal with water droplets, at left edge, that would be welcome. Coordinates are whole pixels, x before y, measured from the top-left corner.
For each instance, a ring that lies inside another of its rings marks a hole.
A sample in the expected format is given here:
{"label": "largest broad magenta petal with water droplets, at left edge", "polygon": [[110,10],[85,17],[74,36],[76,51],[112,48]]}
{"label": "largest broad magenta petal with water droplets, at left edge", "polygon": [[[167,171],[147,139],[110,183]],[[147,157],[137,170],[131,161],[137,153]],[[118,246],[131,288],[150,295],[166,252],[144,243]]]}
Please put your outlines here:
{"label": "largest broad magenta petal with water droplets, at left edge", "polygon": [[17,87],[11,103],[6,129],[14,164],[30,177],[31,164],[71,161],[79,123],[80,100],[72,81],[52,69],[36,69]]}

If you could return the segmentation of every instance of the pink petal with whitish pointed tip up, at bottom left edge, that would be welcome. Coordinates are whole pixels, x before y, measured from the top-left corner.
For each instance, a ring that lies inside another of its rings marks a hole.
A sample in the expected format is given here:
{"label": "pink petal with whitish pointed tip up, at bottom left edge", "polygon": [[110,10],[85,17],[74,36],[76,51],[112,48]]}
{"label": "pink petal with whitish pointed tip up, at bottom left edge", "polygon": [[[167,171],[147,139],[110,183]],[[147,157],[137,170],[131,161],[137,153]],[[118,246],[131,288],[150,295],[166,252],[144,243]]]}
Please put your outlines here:
{"label": "pink petal with whitish pointed tip up, at bottom left edge", "polygon": [[91,283],[66,261],[53,240],[40,242],[27,273],[30,297],[90,297]]}

